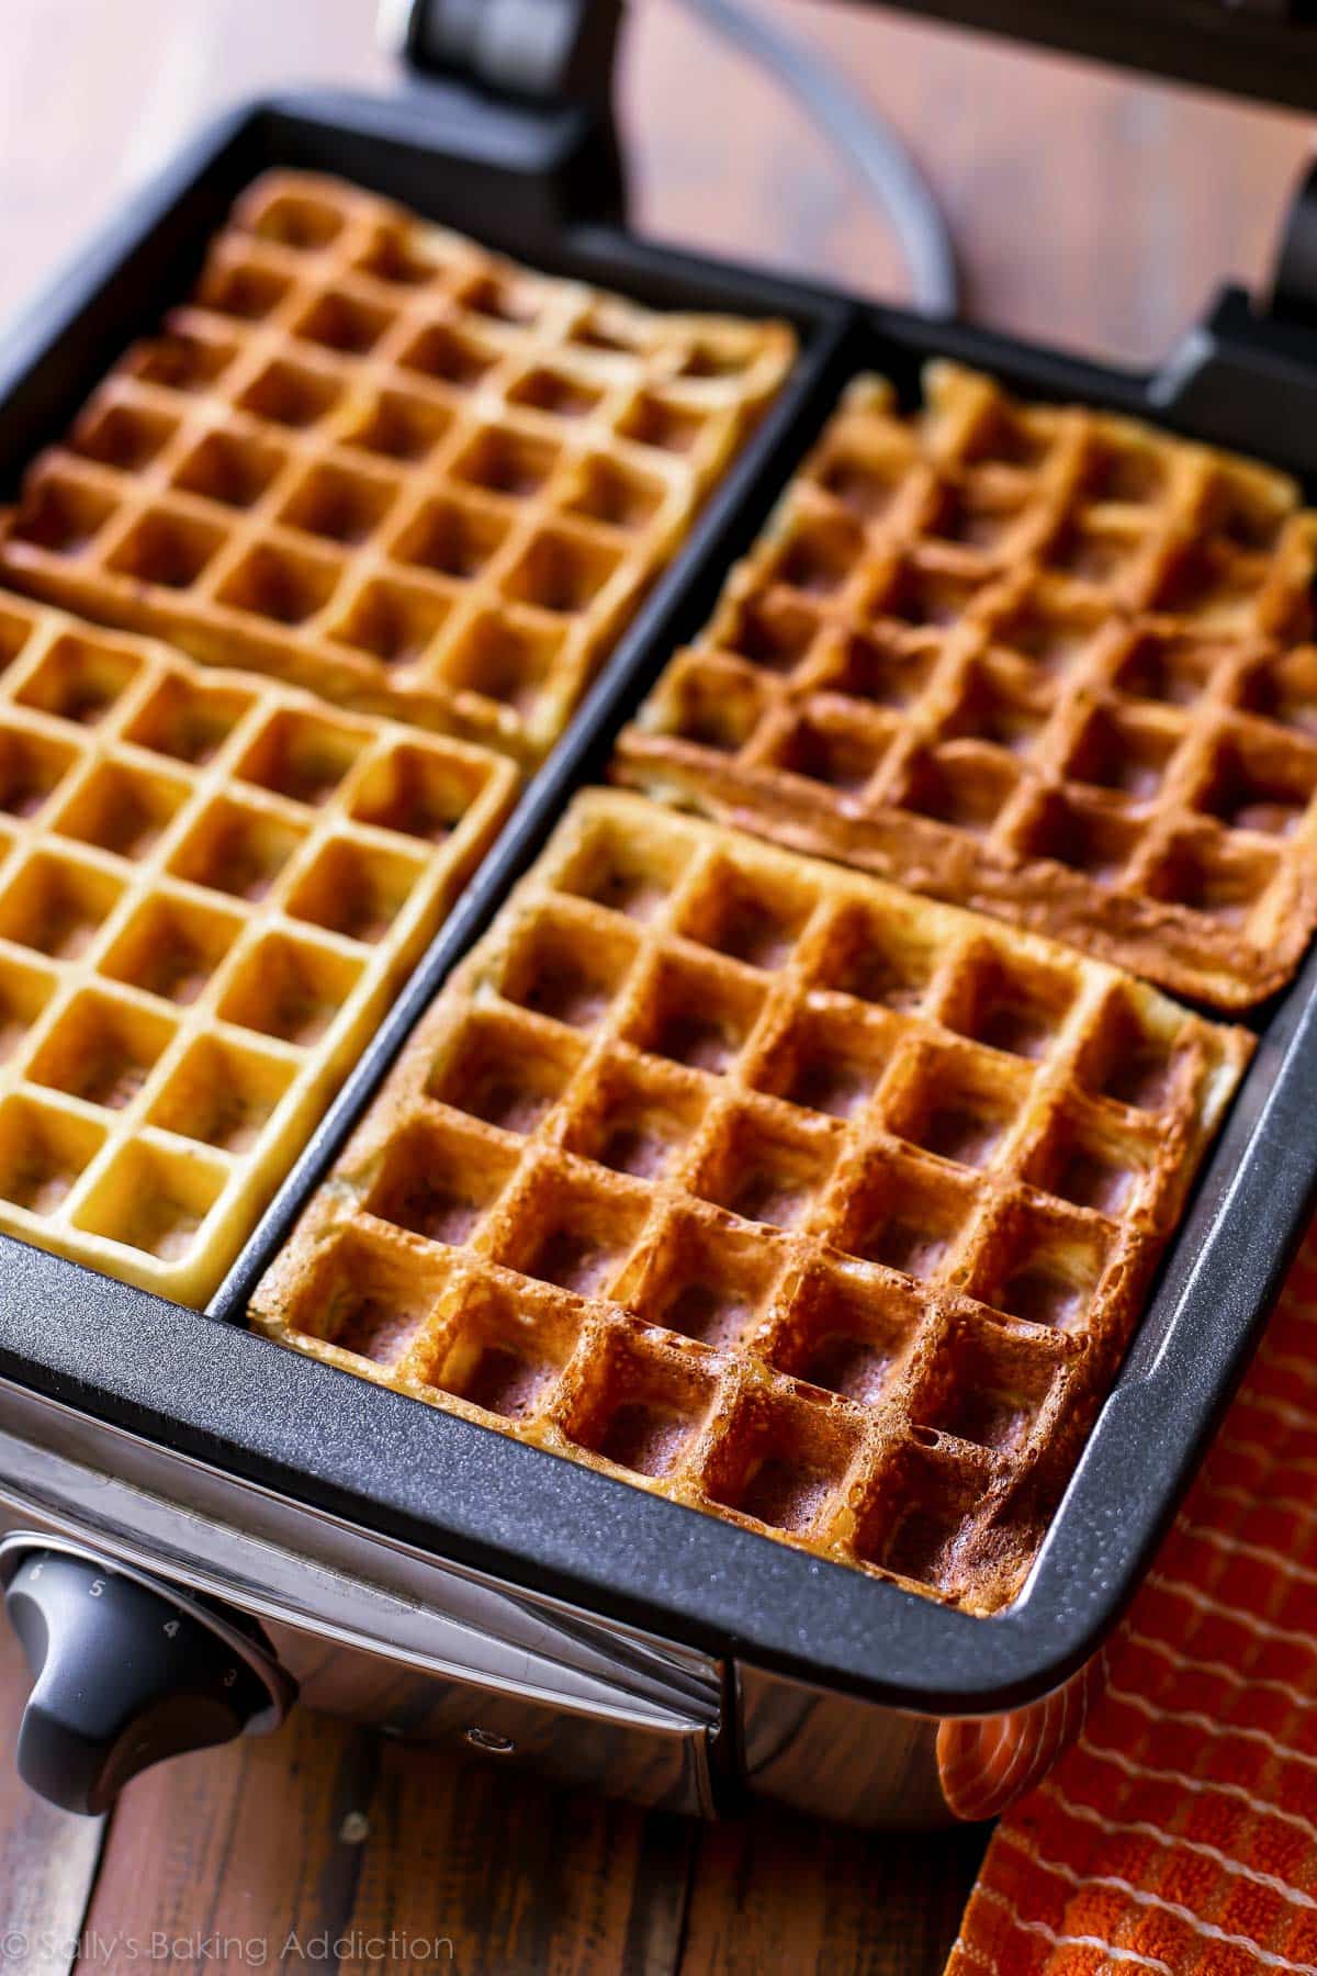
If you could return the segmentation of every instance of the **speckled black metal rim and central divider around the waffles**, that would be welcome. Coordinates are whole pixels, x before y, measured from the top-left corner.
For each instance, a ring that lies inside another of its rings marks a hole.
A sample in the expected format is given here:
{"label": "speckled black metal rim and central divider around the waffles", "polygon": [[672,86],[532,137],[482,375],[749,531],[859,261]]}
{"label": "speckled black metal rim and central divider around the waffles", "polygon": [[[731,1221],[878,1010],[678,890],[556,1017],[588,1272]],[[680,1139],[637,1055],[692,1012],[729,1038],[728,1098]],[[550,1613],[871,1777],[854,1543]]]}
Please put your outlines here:
{"label": "speckled black metal rim and central divider around the waffles", "polygon": [[[999,1709],[1046,1691],[1088,1658],[1137,1583],[1303,1229],[1317,1178],[1313,956],[1258,1020],[1258,1057],[1149,1316],[1027,1593],[1003,1616],[944,1610],[223,1320],[241,1316],[263,1261],[419,1010],[535,856],[571,788],[598,773],[673,644],[703,620],[729,557],[748,543],[839,381],[879,368],[912,387],[922,358],[938,352],[1037,395],[1125,411],[1151,409],[1149,381],[960,326],[849,312],[843,298],[638,247],[608,223],[606,168],[571,113],[472,115],[468,103],[446,107],[442,93],[298,99],[239,115],[180,158],[14,338],[0,368],[0,486],[12,488],[22,460],[63,425],[118,348],[188,285],[231,194],[267,164],[355,176],[545,265],[652,300],[792,312],[812,332],[810,354],[381,1028],[215,1316],[0,1241],[0,1375],[365,1527],[806,1680],[928,1713]],[[594,217],[569,221],[582,200]]]}

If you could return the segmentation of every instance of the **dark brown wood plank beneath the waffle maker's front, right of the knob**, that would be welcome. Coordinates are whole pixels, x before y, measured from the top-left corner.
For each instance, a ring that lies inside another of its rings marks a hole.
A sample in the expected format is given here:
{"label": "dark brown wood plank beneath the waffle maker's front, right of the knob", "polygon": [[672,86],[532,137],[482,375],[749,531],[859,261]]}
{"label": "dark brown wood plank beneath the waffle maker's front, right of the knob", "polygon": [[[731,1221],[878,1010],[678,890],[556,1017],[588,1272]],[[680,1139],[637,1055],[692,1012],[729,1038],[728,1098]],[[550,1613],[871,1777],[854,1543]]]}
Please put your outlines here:
{"label": "dark brown wood plank beneath the waffle maker's front, right of the knob", "polygon": [[235,1970],[284,1954],[658,1976],[677,1964],[693,1842],[683,1820],[294,1713],[124,1792],[87,1925]]}

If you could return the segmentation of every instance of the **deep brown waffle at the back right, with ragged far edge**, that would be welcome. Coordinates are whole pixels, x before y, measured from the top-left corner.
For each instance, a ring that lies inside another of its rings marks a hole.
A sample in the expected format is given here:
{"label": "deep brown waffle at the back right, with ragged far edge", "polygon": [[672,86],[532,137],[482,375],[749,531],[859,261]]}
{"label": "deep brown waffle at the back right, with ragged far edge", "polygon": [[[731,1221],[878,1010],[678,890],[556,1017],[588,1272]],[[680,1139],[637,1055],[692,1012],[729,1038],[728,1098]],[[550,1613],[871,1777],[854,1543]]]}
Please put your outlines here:
{"label": "deep brown waffle at the back right, with ragged far edge", "polygon": [[1317,921],[1311,575],[1262,466],[861,379],[618,773],[1242,1008]]}

